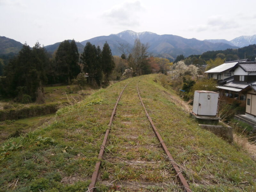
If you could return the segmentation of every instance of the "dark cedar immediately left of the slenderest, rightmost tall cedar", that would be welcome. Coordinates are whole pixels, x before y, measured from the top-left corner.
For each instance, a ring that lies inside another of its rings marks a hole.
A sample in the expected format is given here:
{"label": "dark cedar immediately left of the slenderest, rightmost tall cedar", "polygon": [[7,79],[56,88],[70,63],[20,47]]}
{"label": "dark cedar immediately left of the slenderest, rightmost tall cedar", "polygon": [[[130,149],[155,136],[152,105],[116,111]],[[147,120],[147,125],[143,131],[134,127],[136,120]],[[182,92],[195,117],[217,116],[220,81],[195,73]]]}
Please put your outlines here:
{"label": "dark cedar immediately left of the slenderest, rightmost tall cedar", "polygon": [[92,84],[93,81],[96,81],[100,85],[102,78],[102,69],[101,69],[101,50],[100,47],[95,47],[90,42],[87,42],[84,47],[84,52],[81,55],[82,63],[84,64],[84,72],[88,73],[88,83]]}

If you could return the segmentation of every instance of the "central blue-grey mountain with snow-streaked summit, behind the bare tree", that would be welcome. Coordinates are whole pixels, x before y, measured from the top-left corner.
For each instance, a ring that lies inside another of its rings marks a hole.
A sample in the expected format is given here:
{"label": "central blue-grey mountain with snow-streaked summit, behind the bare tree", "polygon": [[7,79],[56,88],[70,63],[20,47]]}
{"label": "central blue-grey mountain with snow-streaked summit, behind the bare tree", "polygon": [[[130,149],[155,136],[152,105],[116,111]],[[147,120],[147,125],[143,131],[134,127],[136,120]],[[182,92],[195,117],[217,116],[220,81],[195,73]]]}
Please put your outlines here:
{"label": "central blue-grey mountain with snow-streaked summit, behind the bare tree", "polygon": [[96,46],[99,45],[102,48],[105,41],[107,41],[113,55],[120,56],[121,53],[118,52],[119,44],[128,44],[132,47],[136,38],[139,38],[142,43],[150,44],[149,52],[152,55],[162,56],[169,59],[176,58],[180,54],[189,56],[191,54],[202,54],[206,51],[237,48],[234,45],[230,45],[230,43],[212,43],[209,41],[200,41],[195,38],[186,39],[175,35],[157,35],[156,33],[148,31],[137,33],[131,30],[122,31],[118,34],[111,34],[109,36],[94,37],[82,41],[81,44],[85,45],[86,42],[90,41],[92,44],[95,44]]}

